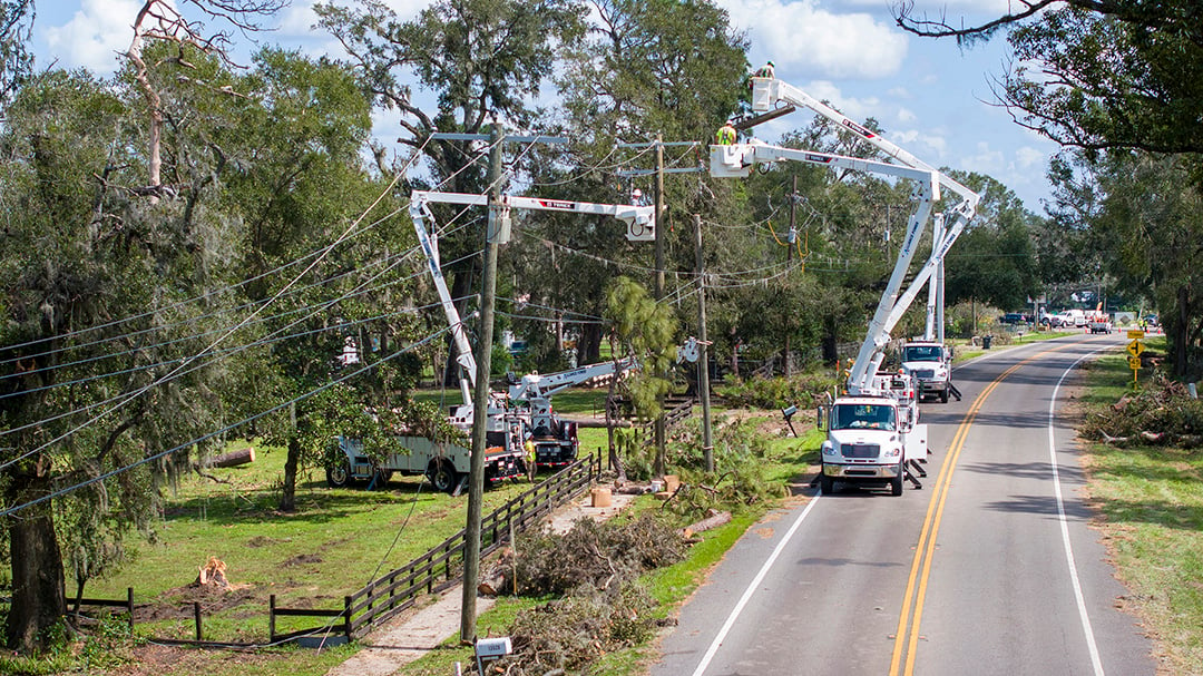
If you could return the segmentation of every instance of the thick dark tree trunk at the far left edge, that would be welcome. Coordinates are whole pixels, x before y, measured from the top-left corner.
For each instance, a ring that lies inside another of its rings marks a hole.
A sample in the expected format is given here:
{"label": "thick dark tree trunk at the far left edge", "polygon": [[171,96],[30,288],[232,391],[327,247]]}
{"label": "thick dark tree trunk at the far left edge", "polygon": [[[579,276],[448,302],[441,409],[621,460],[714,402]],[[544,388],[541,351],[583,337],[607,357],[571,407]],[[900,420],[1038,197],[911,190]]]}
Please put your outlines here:
{"label": "thick dark tree trunk at the far left edge", "polygon": [[[20,485],[10,491],[8,504],[22,504],[46,496],[51,490],[48,472],[18,474]],[[46,647],[48,638],[66,615],[66,582],[63,553],[54,534],[54,512],[49,502],[22,510],[8,521],[8,551],[12,556],[12,607],[8,612],[8,648],[24,653]]]}

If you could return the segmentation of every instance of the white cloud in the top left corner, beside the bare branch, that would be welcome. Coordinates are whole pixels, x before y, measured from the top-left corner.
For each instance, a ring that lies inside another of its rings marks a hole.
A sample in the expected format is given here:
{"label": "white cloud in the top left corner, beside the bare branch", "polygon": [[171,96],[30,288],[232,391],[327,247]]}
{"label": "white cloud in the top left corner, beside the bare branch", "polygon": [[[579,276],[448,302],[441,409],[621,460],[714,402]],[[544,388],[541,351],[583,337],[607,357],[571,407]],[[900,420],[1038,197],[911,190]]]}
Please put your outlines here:
{"label": "white cloud in the top left corner, beside the bare branch", "polygon": [[117,53],[134,40],[134,19],[141,5],[136,0],[83,0],[71,20],[45,29],[46,45],[64,66],[112,73],[119,66]]}

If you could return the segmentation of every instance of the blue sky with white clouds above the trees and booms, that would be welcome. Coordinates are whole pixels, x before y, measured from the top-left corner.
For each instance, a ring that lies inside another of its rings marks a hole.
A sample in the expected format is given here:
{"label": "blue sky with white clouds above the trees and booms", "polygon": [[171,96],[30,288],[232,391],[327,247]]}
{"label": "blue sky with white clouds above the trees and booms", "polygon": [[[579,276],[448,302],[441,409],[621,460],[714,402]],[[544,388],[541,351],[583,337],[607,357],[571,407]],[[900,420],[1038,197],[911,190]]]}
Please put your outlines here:
{"label": "blue sky with white clouds above the trees and booms", "polygon": [[[177,0],[178,2],[179,0]],[[354,0],[339,0],[346,4]],[[771,60],[777,78],[830,101],[860,121],[873,118],[888,138],[935,166],[988,174],[1011,188],[1036,213],[1049,197],[1048,160],[1053,142],[1017,125],[994,102],[992,79],[1006,70],[1003,36],[961,49],[952,40],[920,38],[899,29],[890,14],[896,0],[713,0],[728,11],[733,28],[751,43],[752,69]],[[327,35],[313,30],[313,0],[292,0],[272,20],[271,32],[235,34],[241,51],[251,40],[300,48],[309,54],[340,53]],[[416,16],[426,0],[385,0],[402,18]],[[914,0],[932,17],[961,17],[967,24],[1007,11],[1009,0]],[[141,0],[43,0],[34,28],[40,66],[57,61],[112,73],[132,38]],[[183,4],[180,4],[183,5]],[[217,28],[215,24],[213,28]],[[810,124],[799,111],[757,128],[759,138],[777,141]],[[375,135],[395,142],[398,129],[385,115]]]}

